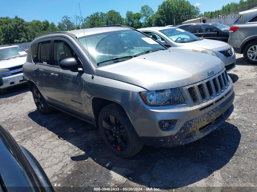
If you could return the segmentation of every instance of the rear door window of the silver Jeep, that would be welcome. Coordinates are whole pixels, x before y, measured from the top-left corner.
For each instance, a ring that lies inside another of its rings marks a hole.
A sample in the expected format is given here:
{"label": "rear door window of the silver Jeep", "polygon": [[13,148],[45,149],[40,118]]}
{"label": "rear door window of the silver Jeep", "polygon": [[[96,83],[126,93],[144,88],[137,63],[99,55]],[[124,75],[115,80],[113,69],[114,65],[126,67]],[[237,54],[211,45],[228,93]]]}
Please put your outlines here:
{"label": "rear door window of the silver Jeep", "polygon": [[39,43],[40,49],[38,49],[38,62],[43,64],[50,64],[50,50],[51,41],[42,41]]}

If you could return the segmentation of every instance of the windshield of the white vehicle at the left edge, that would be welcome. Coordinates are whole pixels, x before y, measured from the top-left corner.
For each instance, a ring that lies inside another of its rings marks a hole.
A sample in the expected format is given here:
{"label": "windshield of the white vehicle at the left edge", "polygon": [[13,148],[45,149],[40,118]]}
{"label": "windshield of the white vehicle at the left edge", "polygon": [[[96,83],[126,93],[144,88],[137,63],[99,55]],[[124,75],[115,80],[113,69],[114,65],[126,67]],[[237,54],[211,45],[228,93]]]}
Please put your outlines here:
{"label": "windshield of the white vehicle at the left edge", "polygon": [[27,53],[21,47],[9,47],[0,49],[0,60],[26,55]]}

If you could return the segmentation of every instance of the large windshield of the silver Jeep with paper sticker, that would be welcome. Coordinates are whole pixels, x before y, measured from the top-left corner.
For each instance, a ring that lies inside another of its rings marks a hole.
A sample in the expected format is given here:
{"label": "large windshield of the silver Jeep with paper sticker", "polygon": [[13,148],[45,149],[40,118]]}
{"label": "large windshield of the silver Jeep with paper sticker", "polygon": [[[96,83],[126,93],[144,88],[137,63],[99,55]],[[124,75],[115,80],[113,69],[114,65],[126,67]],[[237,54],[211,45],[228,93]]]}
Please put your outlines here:
{"label": "large windshield of the silver Jeep with paper sticker", "polygon": [[98,65],[120,62],[121,59],[146,54],[152,49],[165,49],[150,37],[134,30],[98,33],[88,35],[86,39],[79,37],[78,41],[88,49],[91,59]]}

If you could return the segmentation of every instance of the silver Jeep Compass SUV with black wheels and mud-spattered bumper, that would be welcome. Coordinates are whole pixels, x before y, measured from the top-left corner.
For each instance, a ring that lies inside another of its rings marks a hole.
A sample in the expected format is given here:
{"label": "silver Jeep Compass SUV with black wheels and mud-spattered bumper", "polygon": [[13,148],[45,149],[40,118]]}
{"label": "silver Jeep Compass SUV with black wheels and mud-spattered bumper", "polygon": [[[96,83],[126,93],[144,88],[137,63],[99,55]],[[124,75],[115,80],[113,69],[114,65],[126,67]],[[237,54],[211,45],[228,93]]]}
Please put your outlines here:
{"label": "silver Jeep Compass SUV with black wheels and mud-spattered bumper", "polygon": [[130,27],[36,37],[23,71],[42,114],[56,108],[94,124],[125,158],[143,144],[197,140],[233,111],[233,83],[218,57],[167,49]]}

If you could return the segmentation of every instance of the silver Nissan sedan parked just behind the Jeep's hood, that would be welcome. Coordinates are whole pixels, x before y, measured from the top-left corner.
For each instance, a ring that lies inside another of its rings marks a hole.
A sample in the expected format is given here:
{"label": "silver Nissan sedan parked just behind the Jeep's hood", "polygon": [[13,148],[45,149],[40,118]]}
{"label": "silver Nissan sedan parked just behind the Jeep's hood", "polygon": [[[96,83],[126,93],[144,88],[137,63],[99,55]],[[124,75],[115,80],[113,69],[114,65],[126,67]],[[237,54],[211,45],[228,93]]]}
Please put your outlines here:
{"label": "silver Nissan sedan parked just behind the Jeep's hood", "polygon": [[170,49],[183,49],[213,55],[221,59],[228,71],[235,68],[236,55],[233,48],[222,41],[203,39],[176,27],[148,27],[138,29]]}

